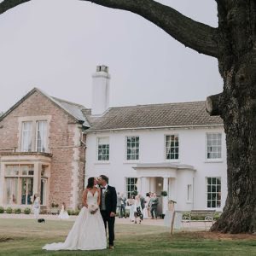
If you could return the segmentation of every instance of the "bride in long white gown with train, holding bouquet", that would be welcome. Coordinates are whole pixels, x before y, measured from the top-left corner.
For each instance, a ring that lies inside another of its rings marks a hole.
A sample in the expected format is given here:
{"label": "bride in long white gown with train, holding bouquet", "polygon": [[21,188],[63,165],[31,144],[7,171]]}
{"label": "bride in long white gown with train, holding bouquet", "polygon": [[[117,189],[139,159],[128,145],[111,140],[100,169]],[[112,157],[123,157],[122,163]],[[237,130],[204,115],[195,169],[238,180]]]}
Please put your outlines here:
{"label": "bride in long white gown with train, holding bouquet", "polygon": [[45,250],[101,250],[107,248],[106,230],[99,209],[101,189],[96,188],[96,179],[89,177],[84,190],[84,207],[69,231],[65,242],[46,244]]}

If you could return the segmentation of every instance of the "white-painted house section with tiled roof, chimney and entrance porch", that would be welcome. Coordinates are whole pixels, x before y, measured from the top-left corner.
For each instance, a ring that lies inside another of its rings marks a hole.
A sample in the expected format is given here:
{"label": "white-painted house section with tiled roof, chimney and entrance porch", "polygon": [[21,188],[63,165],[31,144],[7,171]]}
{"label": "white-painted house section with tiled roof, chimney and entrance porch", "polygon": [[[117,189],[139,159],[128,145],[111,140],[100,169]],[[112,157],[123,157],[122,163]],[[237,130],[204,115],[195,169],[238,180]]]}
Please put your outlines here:
{"label": "white-painted house section with tiled roof, chimney and entrance porch", "polygon": [[223,122],[205,102],[109,108],[108,67],[93,75],[92,109],[84,110],[85,180],[105,174],[127,197],[136,190],[167,191],[160,200],[177,201],[177,210],[222,211],[227,195]]}

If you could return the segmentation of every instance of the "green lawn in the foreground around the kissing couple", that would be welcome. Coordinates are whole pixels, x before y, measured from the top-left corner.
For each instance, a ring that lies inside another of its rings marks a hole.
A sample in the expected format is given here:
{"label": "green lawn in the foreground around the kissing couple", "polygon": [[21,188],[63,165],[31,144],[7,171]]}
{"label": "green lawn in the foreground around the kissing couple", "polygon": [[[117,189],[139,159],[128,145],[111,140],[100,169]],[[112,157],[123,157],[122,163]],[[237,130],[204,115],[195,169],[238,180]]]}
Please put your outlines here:
{"label": "green lawn in the foreground around the kissing couple", "polygon": [[73,222],[0,219],[0,255],[256,255],[256,236],[224,236],[208,232],[170,235],[164,227],[116,225],[114,250],[47,252],[45,243],[64,241]]}

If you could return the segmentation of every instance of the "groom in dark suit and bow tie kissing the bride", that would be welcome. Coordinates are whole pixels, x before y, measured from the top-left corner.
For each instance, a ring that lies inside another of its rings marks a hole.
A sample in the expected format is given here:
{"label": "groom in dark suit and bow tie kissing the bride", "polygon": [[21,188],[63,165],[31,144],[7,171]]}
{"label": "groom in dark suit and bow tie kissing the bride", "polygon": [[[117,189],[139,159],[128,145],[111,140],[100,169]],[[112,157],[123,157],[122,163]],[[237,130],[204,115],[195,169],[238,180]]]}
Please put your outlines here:
{"label": "groom in dark suit and bow tie kissing the bride", "polygon": [[98,178],[98,184],[101,186],[102,199],[101,199],[101,213],[103,222],[105,224],[105,229],[107,230],[108,223],[108,243],[109,248],[113,249],[114,241],[114,220],[116,212],[116,201],[117,195],[114,187],[108,185],[108,177],[101,175]]}

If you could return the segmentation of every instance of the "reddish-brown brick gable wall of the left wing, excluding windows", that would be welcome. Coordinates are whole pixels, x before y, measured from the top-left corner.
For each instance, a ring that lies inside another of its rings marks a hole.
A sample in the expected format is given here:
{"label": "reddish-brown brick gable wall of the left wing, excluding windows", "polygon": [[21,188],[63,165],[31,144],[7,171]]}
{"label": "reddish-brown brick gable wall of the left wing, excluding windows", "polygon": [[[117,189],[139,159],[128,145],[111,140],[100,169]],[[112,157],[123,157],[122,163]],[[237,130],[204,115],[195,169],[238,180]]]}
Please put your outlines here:
{"label": "reddish-brown brick gable wall of the left wing, excluding windows", "polygon": [[[65,201],[67,207],[76,207],[81,202],[84,189],[85,149],[80,146],[78,138],[81,125],[38,90],[35,90],[0,122],[0,126],[3,126],[0,129],[0,152],[18,148],[20,117],[42,115],[50,116],[49,153],[53,154],[49,178],[49,204],[55,201],[61,205],[61,202]],[[76,139],[74,139],[75,133]],[[79,163],[77,167],[74,167],[74,161]],[[78,180],[76,188],[72,187],[74,179]],[[79,194],[76,202],[73,202],[73,193]]]}

